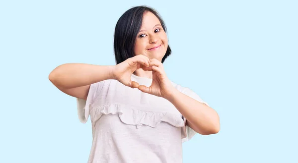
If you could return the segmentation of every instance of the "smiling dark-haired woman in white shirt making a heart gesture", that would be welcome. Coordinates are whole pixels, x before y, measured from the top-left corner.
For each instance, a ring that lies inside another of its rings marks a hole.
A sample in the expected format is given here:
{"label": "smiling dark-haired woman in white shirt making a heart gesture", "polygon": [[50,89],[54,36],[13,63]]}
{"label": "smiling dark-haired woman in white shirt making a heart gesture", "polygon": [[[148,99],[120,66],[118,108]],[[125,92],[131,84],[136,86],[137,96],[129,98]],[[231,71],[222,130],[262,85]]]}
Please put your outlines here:
{"label": "smiling dark-haired woman in white shirt making a heart gesture", "polygon": [[67,63],[49,75],[77,98],[81,122],[90,115],[88,163],[182,163],[182,142],[219,132],[217,112],[167,78],[162,63],[171,49],[155,10],[129,9],[114,37],[116,65]]}

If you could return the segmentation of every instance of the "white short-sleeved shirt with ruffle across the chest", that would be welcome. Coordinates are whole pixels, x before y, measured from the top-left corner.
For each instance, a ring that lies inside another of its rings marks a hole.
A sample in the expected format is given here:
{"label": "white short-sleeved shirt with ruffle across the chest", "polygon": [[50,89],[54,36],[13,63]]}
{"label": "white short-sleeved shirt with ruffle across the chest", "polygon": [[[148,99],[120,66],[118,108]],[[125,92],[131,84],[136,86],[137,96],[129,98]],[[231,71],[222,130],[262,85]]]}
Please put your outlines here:
{"label": "white short-sleeved shirt with ruffle across the chest", "polygon": [[[152,83],[134,74],[131,80],[148,87]],[[172,84],[209,106],[190,89]],[[87,100],[77,98],[77,111],[80,122],[91,119],[88,163],[182,163],[182,143],[196,134],[169,101],[117,80],[91,84]]]}

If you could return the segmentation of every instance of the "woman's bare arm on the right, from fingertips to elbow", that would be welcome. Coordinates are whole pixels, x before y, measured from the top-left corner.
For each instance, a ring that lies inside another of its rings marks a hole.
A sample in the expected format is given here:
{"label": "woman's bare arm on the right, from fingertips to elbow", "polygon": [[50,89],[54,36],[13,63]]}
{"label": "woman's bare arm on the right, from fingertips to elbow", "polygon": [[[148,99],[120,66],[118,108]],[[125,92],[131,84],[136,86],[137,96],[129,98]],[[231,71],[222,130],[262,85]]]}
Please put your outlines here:
{"label": "woman's bare arm on the right, from fingertips to elbow", "polygon": [[152,84],[149,87],[141,85],[138,87],[139,90],[168,100],[187,119],[186,124],[197,133],[209,135],[219,132],[218,113],[173,87],[159,60],[150,59],[149,67],[146,70],[153,71]]}

